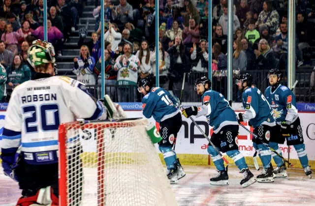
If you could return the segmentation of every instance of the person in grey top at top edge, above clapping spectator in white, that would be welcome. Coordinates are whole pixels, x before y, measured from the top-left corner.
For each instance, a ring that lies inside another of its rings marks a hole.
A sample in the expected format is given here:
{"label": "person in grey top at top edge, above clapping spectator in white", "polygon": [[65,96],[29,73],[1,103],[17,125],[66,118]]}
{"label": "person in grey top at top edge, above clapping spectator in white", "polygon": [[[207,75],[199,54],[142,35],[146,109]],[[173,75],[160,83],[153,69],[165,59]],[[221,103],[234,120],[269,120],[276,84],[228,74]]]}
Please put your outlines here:
{"label": "person in grey top at top edge, above clapping spectator in white", "polygon": [[117,23],[119,28],[124,28],[127,22],[133,22],[132,6],[127,3],[127,0],[120,0],[120,4],[113,11],[113,20]]}

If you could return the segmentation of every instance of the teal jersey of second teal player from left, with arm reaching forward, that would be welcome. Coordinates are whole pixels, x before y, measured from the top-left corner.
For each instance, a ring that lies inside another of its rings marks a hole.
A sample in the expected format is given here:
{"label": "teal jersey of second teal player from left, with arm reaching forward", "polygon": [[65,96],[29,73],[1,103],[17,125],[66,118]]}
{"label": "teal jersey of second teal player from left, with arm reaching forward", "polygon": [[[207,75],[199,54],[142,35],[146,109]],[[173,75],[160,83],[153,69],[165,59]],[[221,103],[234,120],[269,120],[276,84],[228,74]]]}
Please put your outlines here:
{"label": "teal jersey of second teal player from left, with arm reaching forward", "polygon": [[202,106],[196,117],[206,116],[208,124],[218,133],[223,126],[238,125],[235,112],[224,96],[214,90],[207,90],[202,95]]}

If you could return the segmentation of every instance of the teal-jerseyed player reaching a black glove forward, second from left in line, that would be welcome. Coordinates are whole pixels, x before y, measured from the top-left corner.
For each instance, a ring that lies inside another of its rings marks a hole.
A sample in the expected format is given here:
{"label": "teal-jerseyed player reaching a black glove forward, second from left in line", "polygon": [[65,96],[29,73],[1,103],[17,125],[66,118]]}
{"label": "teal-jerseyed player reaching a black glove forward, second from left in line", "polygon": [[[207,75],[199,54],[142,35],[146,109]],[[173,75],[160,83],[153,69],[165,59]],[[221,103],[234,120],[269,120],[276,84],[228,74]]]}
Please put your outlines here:
{"label": "teal-jerseyed player reaching a black glove forward, second from left in line", "polygon": [[[247,187],[256,181],[245,162],[245,158],[238,149],[236,137],[238,135],[239,125],[235,116],[235,112],[230,107],[228,101],[223,95],[217,91],[211,90],[211,81],[207,77],[198,78],[195,81],[195,89],[199,95],[202,95],[202,106],[195,106],[183,110],[182,114],[189,118],[194,115],[196,117],[206,116],[208,124],[213,127],[213,135],[211,142],[221,152],[233,159],[236,166],[243,174],[240,184]],[[210,144],[208,152],[219,171],[216,177],[210,179],[210,184],[227,185],[228,175],[227,168],[225,170],[223,159]]]}

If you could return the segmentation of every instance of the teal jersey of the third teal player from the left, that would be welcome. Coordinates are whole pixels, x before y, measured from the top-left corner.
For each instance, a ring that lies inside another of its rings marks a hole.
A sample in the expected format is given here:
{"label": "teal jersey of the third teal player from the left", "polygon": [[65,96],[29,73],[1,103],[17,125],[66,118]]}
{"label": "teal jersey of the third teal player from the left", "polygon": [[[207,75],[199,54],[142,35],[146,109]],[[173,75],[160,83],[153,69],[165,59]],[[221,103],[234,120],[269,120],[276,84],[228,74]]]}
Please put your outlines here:
{"label": "teal jersey of the third teal player from the left", "polygon": [[261,91],[252,86],[243,91],[242,103],[245,109],[244,122],[250,121],[253,128],[261,124],[275,125],[273,110]]}

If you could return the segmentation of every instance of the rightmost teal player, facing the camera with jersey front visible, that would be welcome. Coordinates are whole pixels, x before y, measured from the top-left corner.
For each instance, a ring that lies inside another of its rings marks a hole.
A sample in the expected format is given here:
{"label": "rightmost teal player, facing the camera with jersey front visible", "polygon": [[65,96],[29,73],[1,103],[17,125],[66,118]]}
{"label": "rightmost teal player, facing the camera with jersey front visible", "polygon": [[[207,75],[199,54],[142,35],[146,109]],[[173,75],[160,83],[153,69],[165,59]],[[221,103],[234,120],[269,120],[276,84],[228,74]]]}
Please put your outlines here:
{"label": "rightmost teal player, facing the camera with jersey front visible", "polygon": [[[286,144],[295,148],[305,175],[312,178],[295,96],[289,88],[280,84],[281,72],[278,69],[271,69],[268,78],[270,86],[265,90],[265,97],[275,113],[277,123],[277,129],[270,138],[269,146],[281,154],[278,144],[284,144],[286,139]],[[283,160],[276,154],[272,156],[277,164],[274,170],[276,177],[287,177]]]}

